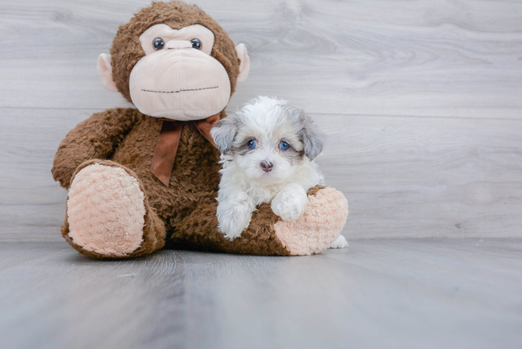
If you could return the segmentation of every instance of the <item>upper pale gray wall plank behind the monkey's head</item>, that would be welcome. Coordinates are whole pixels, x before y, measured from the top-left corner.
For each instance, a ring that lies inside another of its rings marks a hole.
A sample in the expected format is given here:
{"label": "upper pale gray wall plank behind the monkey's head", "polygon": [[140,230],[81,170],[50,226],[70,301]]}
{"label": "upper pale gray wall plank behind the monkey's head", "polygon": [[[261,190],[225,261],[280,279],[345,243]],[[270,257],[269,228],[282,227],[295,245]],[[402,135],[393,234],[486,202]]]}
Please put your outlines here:
{"label": "upper pale gray wall plank behind the monkey's head", "polygon": [[[197,1],[246,43],[230,104],[277,95],[315,113],[521,117],[518,1]],[[96,57],[140,1],[0,3],[0,106],[126,105]]]}

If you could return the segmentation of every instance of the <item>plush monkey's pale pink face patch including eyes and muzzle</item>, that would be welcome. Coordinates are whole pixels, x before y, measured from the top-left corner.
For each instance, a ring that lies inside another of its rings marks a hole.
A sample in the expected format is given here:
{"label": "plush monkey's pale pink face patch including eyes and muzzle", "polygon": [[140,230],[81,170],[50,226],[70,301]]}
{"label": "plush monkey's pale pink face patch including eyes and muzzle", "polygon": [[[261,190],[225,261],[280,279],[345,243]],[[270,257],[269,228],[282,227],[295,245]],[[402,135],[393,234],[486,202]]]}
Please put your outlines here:
{"label": "plush monkey's pale pink face patch including eyes and muzzle", "polygon": [[200,24],[172,29],[156,24],[140,36],[146,56],[130,73],[130,98],[151,117],[204,119],[225,108],[230,79],[210,55],[214,33]]}

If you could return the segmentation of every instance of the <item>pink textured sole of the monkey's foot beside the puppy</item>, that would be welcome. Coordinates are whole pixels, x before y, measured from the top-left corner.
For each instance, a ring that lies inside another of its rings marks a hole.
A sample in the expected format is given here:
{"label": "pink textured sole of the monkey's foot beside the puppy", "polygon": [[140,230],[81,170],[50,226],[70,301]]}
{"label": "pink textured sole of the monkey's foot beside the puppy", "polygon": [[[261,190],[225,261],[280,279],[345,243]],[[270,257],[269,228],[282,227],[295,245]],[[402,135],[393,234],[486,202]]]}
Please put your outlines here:
{"label": "pink textured sole of the monkey's foot beside the puppy", "polygon": [[274,224],[277,237],[290,255],[311,255],[329,248],[338,239],[348,218],[348,201],[334,188],[308,191],[308,205],[295,222]]}

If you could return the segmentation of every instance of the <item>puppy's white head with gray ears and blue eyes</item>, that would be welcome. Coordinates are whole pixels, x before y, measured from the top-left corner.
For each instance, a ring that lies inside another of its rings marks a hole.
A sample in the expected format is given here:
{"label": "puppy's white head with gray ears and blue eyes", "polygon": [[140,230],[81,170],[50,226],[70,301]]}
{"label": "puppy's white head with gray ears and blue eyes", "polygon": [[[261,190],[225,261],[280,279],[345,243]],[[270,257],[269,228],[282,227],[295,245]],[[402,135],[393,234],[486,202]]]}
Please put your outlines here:
{"label": "puppy's white head with gray ears and blue eyes", "polygon": [[301,110],[276,98],[258,97],[211,130],[222,154],[232,156],[246,177],[281,183],[302,161],[322,151],[325,138]]}

